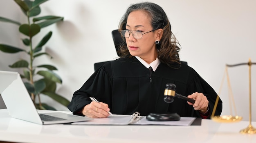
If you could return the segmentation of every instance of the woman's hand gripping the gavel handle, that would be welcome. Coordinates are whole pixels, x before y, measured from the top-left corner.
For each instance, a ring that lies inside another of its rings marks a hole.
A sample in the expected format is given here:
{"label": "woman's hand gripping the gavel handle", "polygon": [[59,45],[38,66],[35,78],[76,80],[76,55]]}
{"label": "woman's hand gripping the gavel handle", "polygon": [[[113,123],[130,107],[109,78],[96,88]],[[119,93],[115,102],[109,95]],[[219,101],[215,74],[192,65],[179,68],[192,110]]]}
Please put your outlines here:
{"label": "woman's hand gripping the gavel handle", "polygon": [[188,102],[189,105],[192,105],[195,110],[200,111],[201,113],[207,112],[207,108],[209,105],[209,101],[203,93],[195,92],[191,95],[188,95],[188,98],[192,98],[195,100],[195,103]]}

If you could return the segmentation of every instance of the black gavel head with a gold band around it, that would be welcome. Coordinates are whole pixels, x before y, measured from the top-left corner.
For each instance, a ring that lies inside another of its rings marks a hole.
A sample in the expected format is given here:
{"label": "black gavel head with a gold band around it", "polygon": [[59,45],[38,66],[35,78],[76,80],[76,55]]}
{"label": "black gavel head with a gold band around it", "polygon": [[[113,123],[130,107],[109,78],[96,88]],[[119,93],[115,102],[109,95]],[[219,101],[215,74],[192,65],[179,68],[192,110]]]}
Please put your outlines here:
{"label": "black gavel head with a gold band around it", "polygon": [[175,89],[176,85],[173,83],[167,83],[166,88],[164,90],[164,101],[167,103],[171,103],[174,101],[174,96],[175,96]]}

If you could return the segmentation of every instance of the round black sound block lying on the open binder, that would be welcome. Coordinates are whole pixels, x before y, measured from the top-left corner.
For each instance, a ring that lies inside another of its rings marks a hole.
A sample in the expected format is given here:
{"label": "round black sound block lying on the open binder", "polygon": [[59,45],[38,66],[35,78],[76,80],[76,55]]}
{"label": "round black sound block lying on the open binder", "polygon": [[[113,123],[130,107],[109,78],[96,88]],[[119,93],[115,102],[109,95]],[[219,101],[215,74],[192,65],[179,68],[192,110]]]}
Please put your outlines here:
{"label": "round black sound block lying on the open binder", "polygon": [[180,115],[177,113],[164,113],[164,114],[156,114],[150,113],[146,119],[148,121],[179,121]]}

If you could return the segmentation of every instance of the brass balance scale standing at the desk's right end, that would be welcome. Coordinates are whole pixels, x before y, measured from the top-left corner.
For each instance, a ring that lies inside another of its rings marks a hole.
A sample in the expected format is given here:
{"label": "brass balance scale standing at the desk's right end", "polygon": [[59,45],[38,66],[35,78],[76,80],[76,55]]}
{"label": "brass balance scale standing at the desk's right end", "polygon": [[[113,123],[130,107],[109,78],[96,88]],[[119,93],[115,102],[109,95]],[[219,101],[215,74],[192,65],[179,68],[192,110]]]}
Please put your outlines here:
{"label": "brass balance scale standing at the desk's right end", "polygon": [[[226,75],[227,84],[228,84],[228,88],[229,88],[229,90],[228,90],[229,91],[229,100],[232,100],[232,102],[229,101],[229,103],[233,103],[234,110],[236,111],[236,107],[235,107],[235,104],[234,104],[234,97],[233,97],[233,93],[231,91],[231,85],[230,85],[230,81],[229,81],[229,74],[227,72],[227,68],[228,67],[236,67],[236,66],[239,66],[239,65],[249,65],[249,126],[245,129],[243,129],[243,130],[240,130],[240,133],[256,134],[256,129],[252,126],[252,87],[251,87],[251,66],[256,65],[256,63],[252,63],[251,59],[249,58],[248,63],[240,63],[240,64],[236,64],[236,65],[226,65],[225,73],[224,73],[224,76],[222,78],[222,82],[221,82],[221,85],[220,85],[220,91],[222,89],[222,85],[223,85],[225,75]],[[218,95],[220,95],[220,91],[219,91]],[[219,96],[217,96],[217,98],[216,98],[216,102],[215,102],[214,107],[213,107],[213,113],[211,115],[211,119],[213,121],[220,122],[220,123],[234,123],[234,122],[241,121],[243,119],[243,117],[238,116],[237,114],[235,116],[233,116],[232,114],[231,115],[214,116],[214,114],[216,112],[216,107],[217,107],[218,100],[219,100]]]}

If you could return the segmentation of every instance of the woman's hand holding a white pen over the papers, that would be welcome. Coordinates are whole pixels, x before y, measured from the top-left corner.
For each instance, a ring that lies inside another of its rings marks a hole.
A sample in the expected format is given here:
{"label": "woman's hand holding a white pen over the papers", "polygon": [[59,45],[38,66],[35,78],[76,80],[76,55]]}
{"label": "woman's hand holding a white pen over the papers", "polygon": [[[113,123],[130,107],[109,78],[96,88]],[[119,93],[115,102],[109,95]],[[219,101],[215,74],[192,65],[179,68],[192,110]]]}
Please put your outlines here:
{"label": "woman's hand holding a white pen over the papers", "polygon": [[108,111],[110,111],[108,104],[92,101],[90,104],[84,106],[82,114],[90,118],[106,118],[109,116]]}

